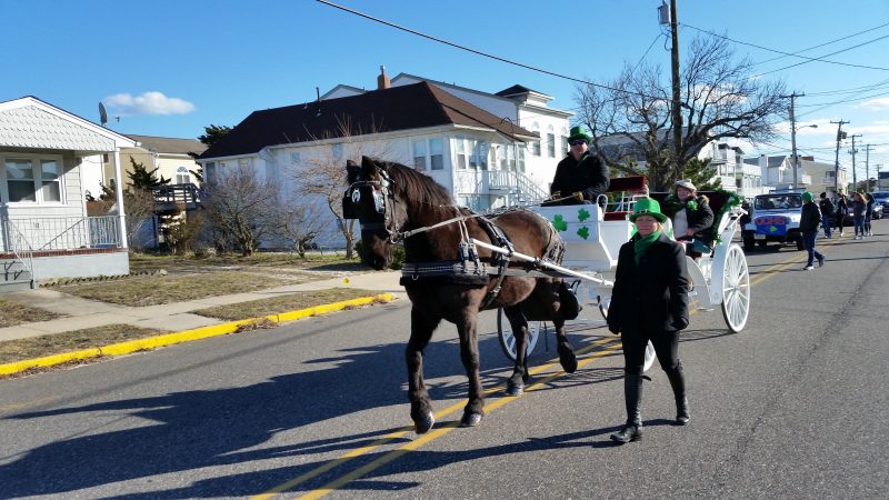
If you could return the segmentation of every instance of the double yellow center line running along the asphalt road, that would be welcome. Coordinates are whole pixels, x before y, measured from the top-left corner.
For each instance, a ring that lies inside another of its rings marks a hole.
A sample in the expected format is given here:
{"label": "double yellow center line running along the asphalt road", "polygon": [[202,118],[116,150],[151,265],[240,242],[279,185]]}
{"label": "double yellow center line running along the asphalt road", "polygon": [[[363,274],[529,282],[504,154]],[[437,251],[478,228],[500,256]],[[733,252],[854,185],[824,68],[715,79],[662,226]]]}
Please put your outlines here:
{"label": "double yellow center line running along the asphalt road", "polygon": [[[831,244],[835,244],[836,242],[837,242],[837,240],[830,241],[830,242],[823,243],[822,247],[831,246]],[[772,264],[772,266],[766,268],[763,271],[761,271],[761,273],[759,276],[757,276],[756,279],[750,280],[750,287],[753,287],[755,284],[762,283],[767,279],[776,276],[778,272],[783,271],[785,269],[789,268],[790,266],[792,266],[795,263],[801,262],[806,258],[807,258],[806,253],[803,253],[802,257],[795,254],[793,257],[790,257],[788,260],[785,260],[782,262],[778,262],[776,264]],[[689,316],[693,316],[696,312],[697,312],[696,309],[691,309],[690,308]],[[589,351],[596,349],[597,347],[603,347],[603,349],[599,350],[599,351],[596,351],[593,354],[591,354],[591,356],[589,356],[589,357],[587,357],[587,358],[585,358],[582,360],[579,360],[578,361],[578,368],[586,367],[587,364],[591,363],[592,361],[595,361],[595,360],[597,360],[597,359],[599,359],[599,358],[601,358],[601,357],[603,357],[603,356],[606,356],[608,353],[611,353],[611,352],[618,350],[621,347],[621,343],[620,343],[620,339],[619,338],[602,338],[602,339],[598,339],[598,340],[591,341],[588,346],[586,346],[583,348],[580,348],[577,351],[575,351],[575,353],[580,356],[580,354],[583,354],[586,352],[589,352]],[[541,364],[539,367],[531,368],[529,370],[529,374],[537,376],[539,373],[542,373],[542,372],[546,372],[546,371],[550,370],[551,368],[553,368],[557,364],[558,364],[558,360],[553,359],[553,360],[547,362],[546,364]],[[545,387],[546,384],[550,383],[551,381],[553,381],[553,380],[556,380],[556,379],[558,379],[560,377],[563,377],[565,374],[567,374],[567,373],[563,370],[559,369],[556,372],[552,372],[549,376],[545,377],[543,379],[538,380],[535,383],[526,387],[525,392],[531,392],[531,391],[538,390],[538,389]],[[495,386],[495,387],[492,387],[490,389],[487,389],[485,391],[485,393],[490,396],[490,394],[493,394],[493,393],[501,392],[503,389],[505,388],[503,388],[502,384],[498,384],[498,386]],[[517,400],[521,396],[519,396],[519,397],[499,397],[495,401],[490,401],[488,404],[485,406],[485,412],[486,413],[490,413],[490,412],[497,410],[498,408],[500,408],[500,407],[502,407],[505,404],[508,404],[509,402],[512,402],[512,401]],[[440,421],[443,418],[450,416],[451,413],[455,413],[455,412],[459,411],[460,409],[466,407],[467,402],[468,402],[468,399],[463,399],[463,400],[461,400],[461,401],[459,401],[459,402],[457,402],[455,404],[451,404],[448,408],[444,408],[443,410],[440,410],[440,411],[433,413],[436,421]],[[321,487],[319,489],[309,491],[309,492],[307,492],[306,494],[303,494],[303,496],[301,496],[299,498],[300,499],[313,499],[313,498],[323,497],[323,496],[326,496],[326,494],[339,489],[340,487],[349,483],[350,481],[359,479],[359,478],[366,476],[367,473],[373,471],[374,469],[378,469],[378,468],[380,468],[380,467],[382,467],[382,466],[384,466],[384,464],[398,459],[399,457],[402,457],[406,453],[420,448],[421,446],[426,444],[427,442],[433,441],[433,440],[436,440],[436,439],[449,433],[453,429],[458,428],[459,424],[460,424],[459,421],[453,421],[453,422],[448,422],[446,424],[442,424],[441,427],[438,427],[438,428],[431,430],[430,432],[428,432],[426,434],[419,436],[418,438],[413,439],[412,441],[410,441],[410,442],[408,442],[408,443],[406,443],[406,444],[403,444],[403,446],[401,446],[401,447],[399,447],[399,448],[397,448],[394,450],[391,450],[391,451],[387,452],[386,454],[383,454],[382,457],[380,457],[380,458],[378,458],[378,459],[376,459],[376,460],[373,460],[373,461],[371,461],[371,462],[369,462],[369,463],[367,463],[367,464],[364,464],[364,466],[362,466],[362,467],[360,467],[360,468],[358,468],[358,469],[356,469],[356,470],[353,470],[353,471],[351,471],[351,472],[349,472],[349,473],[347,473],[344,476],[341,476],[340,478],[331,481],[328,484],[324,484],[323,487]],[[341,464],[343,464],[343,463],[346,463],[348,461],[351,461],[351,460],[353,460],[356,458],[359,458],[361,456],[370,453],[370,452],[379,449],[380,447],[390,443],[391,441],[393,441],[396,439],[403,438],[404,436],[411,433],[412,431],[413,431],[413,427],[404,427],[404,428],[401,428],[401,429],[399,429],[397,431],[390,432],[390,433],[383,436],[382,438],[378,439],[377,441],[373,441],[372,443],[370,443],[370,444],[368,444],[366,447],[357,448],[357,449],[354,449],[352,451],[349,451],[348,453],[344,453],[343,456],[341,456],[339,458],[330,460],[330,461],[326,462],[324,464],[322,464],[320,467],[317,467],[317,468],[314,468],[314,469],[312,469],[312,470],[310,470],[310,471],[308,471],[308,472],[306,472],[303,474],[300,474],[297,478],[291,479],[290,481],[287,481],[287,482],[282,483],[282,484],[279,484],[279,486],[277,486],[277,487],[274,487],[274,488],[272,488],[272,489],[270,489],[270,490],[268,490],[268,491],[266,491],[266,492],[263,492],[261,494],[253,496],[252,499],[268,499],[268,498],[273,497],[273,496],[276,496],[278,493],[284,492],[284,491],[287,491],[287,490],[289,490],[289,489],[291,489],[291,488],[293,488],[296,486],[299,486],[299,484],[301,484],[301,483],[303,483],[303,482],[306,482],[306,481],[308,481],[310,479],[317,478],[318,476],[321,476],[322,473],[328,472],[328,471],[330,471],[330,470],[332,470],[332,469],[334,469],[334,468],[337,468],[337,467],[339,467],[339,466],[341,466]]]}

